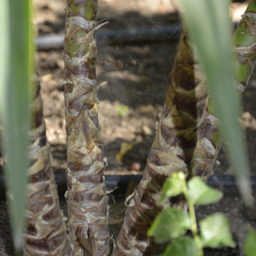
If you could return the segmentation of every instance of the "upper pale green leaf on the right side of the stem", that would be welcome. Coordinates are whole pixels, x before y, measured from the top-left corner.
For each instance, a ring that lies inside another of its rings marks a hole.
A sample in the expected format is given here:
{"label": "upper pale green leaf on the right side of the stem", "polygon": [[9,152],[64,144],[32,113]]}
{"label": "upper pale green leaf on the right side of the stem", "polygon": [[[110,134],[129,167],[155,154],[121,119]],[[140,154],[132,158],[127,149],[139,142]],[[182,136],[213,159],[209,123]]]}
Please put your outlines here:
{"label": "upper pale green leaf on the right side of the stem", "polygon": [[189,180],[188,187],[189,200],[198,206],[219,201],[223,196],[221,191],[212,189],[200,177],[193,177]]}

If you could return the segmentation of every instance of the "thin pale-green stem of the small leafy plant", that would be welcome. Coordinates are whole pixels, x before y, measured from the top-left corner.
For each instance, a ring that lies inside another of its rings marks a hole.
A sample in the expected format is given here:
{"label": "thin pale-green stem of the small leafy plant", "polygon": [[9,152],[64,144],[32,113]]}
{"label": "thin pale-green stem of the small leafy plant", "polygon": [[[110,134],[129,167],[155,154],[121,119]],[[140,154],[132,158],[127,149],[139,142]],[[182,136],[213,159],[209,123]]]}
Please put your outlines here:
{"label": "thin pale-green stem of the small leafy plant", "polygon": [[203,251],[202,251],[202,246],[201,246],[201,239],[198,236],[198,232],[197,232],[197,225],[196,225],[196,218],[195,218],[195,206],[193,204],[192,201],[189,200],[189,190],[187,187],[187,183],[185,180],[185,175],[183,172],[180,172],[178,174],[178,177],[181,180],[182,183],[182,188],[183,188],[183,194],[185,196],[186,201],[188,202],[189,205],[189,216],[190,216],[190,220],[191,220],[191,230],[194,236],[194,240],[195,240],[195,244],[197,246],[198,249],[198,255],[199,256],[203,256]]}

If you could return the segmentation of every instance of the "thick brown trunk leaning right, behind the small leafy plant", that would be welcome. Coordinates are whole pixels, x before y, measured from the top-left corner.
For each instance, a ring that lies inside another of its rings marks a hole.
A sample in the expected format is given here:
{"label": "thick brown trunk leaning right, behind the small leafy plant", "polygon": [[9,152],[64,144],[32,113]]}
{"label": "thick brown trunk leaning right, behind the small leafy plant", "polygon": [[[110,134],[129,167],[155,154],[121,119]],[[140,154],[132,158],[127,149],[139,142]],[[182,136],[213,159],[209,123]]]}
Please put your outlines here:
{"label": "thick brown trunk leaning right, behind the small leafy plant", "polygon": [[166,200],[159,204],[166,177],[179,171],[189,174],[188,165],[206,106],[205,76],[183,33],[148,164],[125,214],[116,241],[116,255],[155,255],[165,246],[147,237],[147,230],[156,215],[170,202],[174,203]]}

